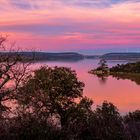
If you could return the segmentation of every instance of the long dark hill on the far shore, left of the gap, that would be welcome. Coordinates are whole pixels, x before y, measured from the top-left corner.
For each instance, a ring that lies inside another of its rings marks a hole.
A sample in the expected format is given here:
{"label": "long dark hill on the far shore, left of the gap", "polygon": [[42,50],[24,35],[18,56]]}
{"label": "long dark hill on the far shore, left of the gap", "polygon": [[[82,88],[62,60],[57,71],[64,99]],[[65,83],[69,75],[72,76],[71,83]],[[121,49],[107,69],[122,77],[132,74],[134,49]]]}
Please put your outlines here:
{"label": "long dark hill on the far shore, left of the gap", "polygon": [[83,59],[97,59],[98,56],[83,55],[75,52],[47,53],[47,52],[0,52],[1,56],[20,55],[24,59],[34,59],[35,61],[80,61]]}

